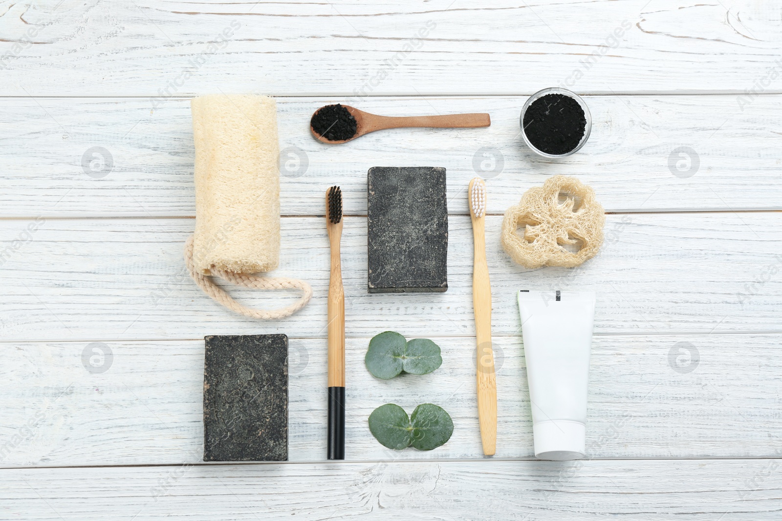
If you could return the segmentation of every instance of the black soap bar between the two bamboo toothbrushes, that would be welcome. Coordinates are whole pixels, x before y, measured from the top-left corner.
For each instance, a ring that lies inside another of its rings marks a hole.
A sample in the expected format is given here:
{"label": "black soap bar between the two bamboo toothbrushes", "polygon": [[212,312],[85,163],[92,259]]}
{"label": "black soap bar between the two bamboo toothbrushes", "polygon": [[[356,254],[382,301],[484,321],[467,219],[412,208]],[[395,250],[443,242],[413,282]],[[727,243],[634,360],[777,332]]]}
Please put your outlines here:
{"label": "black soap bar between the two bamboo toothbrushes", "polygon": [[375,166],[367,186],[369,293],[446,291],[445,169]]}

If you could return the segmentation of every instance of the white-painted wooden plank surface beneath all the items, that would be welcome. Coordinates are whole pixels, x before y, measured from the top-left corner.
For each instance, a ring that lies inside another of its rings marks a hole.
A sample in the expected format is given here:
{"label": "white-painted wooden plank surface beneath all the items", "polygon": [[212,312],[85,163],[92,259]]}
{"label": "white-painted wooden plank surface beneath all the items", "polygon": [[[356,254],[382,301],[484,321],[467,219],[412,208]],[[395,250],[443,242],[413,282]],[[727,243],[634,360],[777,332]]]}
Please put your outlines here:
{"label": "white-painted wooden plank surface beneath all the items", "polygon": [[[767,0],[0,2],[0,519],[782,518],[780,56]],[[550,162],[524,147],[518,115],[556,85],[585,95],[594,128]],[[235,316],[185,273],[188,101],[216,92],[278,96],[277,273],[314,288],[290,319]],[[334,102],[490,112],[492,126],[329,147],[307,122]],[[447,168],[449,290],[367,294],[367,170],[421,165]],[[521,269],[498,244],[501,216],[553,173],[594,187],[607,239],[578,269]],[[472,362],[476,174],[493,458]],[[346,462],[325,462],[332,184],[346,210]],[[533,457],[522,287],[599,295],[583,461]],[[443,366],[375,380],[363,357],[383,330],[435,339]],[[290,337],[290,461],[204,464],[203,337],[261,333]],[[397,452],[371,437],[375,407],[423,401],[453,417],[447,444]]]}

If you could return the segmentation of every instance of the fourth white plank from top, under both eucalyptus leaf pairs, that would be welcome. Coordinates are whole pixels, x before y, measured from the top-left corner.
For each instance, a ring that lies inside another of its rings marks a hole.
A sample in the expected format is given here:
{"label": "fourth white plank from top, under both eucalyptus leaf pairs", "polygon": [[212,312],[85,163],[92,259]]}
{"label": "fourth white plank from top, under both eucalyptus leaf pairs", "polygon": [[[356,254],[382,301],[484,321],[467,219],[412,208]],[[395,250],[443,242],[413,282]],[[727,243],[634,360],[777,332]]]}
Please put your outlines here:
{"label": "fourth white plank from top, under both eucalyptus leaf pairs", "polygon": [[[403,330],[397,326],[395,329]],[[480,459],[475,342],[436,338],[443,366],[378,380],[368,338],[346,344],[346,458]],[[497,459],[533,459],[520,337],[495,337]],[[0,466],[195,464],[203,458],[203,341],[5,343],[0,366]],[[782,335],[594,337],[587,457],[782,456]],[[98,349],[98,351],[95,351]],[[109,354],[110,353],[110,354]],[[289,460],[326,455],[325,340],[289,345]],[[678,363],[677,363],[678,358]],[[435,403],[454,435],[434,451],[392,451],[369,414]]]}

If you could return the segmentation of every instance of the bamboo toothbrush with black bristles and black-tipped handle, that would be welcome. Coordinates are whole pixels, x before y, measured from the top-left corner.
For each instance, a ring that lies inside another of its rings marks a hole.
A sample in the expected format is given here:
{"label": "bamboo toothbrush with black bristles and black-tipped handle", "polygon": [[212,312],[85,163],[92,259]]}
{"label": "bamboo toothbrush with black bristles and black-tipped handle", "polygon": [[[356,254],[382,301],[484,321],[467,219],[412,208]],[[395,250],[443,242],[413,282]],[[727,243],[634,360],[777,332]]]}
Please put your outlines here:
{"label": "bamboo toothbrush with black bristles and black-tipped handle", "polygon": [[326,191],[326,231],[331,244],[328,281],[328,459],[345,459],[345,290],[339,241],[342,239],[342,191]]}

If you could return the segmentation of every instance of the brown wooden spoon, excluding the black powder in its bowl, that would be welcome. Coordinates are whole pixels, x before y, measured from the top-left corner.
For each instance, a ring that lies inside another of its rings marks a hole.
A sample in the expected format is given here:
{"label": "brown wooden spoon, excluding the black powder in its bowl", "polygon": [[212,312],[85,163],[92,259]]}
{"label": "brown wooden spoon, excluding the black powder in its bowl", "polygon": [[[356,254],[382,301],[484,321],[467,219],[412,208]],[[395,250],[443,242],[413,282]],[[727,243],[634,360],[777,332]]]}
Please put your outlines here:
{"label": "brown wooden spoon, excluding the black powder in its bowl", "polygon": [[[375,130],[386,130],[387,128],[409,128],[409,127],[431,127],[431,128],[476,128],[476,127],[489,127],[491,120],[486,113],[473,113],[473,114],[447,114],[445,116],[406,116],[406,117],[390,117],[390,116],[378,116],[377,114],[370,114],[363,110],[356,109],[350,105],[343,105],[350,114],[356,118],[356,134],[350,139],[343,139],[340,141],[332,141],[327,137],[323,137],[315,132],[315,129],[310,125],[310,131],[312,135],[318,141],[323,141],[329,145],[340,145],[353,141],[357,137],[361,137],[364,134],[375,132]],[[322,108],[322,107],[321,107]],[[321,109],[317,109],[315,114]]]}

